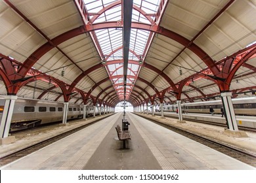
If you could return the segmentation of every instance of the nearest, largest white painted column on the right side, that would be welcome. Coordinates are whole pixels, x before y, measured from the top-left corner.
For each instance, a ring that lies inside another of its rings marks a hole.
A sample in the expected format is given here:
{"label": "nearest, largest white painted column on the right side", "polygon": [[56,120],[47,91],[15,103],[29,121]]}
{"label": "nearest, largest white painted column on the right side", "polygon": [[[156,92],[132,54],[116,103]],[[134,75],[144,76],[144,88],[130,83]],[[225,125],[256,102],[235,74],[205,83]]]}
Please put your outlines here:
{"label": "nearest, largest white painted column on the right side", "polygon": [[236,123],[236,116],[234,114],[234,107],[231,101],[231,92],[221,93],[221,100],[223,101],[224,113],[226,122],[230,131],[238,131],[238,124]]}

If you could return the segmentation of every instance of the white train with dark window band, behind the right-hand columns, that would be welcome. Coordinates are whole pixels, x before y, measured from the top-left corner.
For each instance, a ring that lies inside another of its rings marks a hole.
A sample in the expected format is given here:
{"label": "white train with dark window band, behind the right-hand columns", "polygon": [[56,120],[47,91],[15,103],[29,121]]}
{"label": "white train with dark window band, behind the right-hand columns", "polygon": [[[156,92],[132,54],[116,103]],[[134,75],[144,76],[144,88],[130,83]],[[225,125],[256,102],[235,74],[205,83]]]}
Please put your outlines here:
{"label": "white train with dark window band, behind the right-hand columns", "polygon": [[[236,115],[256,116],[256,97],[236,98],[232,99],[232,103]],[[185,113],[210,113],[210,106],[215,110],[215,114],[221,114],[221,107],[223,107],[221,100],[181,104],[182,112]],[[177,105],[165,105],[163,111],[176,112]]]}

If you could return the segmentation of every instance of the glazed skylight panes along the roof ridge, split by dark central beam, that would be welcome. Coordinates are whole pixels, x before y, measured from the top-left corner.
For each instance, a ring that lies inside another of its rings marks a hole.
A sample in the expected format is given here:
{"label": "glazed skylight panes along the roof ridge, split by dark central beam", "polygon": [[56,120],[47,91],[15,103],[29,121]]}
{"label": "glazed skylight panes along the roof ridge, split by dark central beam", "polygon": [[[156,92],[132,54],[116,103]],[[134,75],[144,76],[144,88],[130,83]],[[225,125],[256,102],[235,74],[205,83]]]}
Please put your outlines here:
{"label": "glazed skylight panes along the roof ridge, split by dark central beam", "polygon": [[[86,10],[89,14],[89,18],[93,19],[93,24],[100,22],[117,22],[123,21],[122,18],[122,1],[114,0],[83,0]],[[115,3],[115,4],[113,4]],[[140,22],[143,24],[152,24],[152,21],[156,19],[160,0],[133,0],[133,14],[132,22]],[[110,8],[111,7],[111,8]],[[107,10],[102,11],[106,8]],[[101,13],[101,14],[100,14]],[[145,15],[144,15],[145,14]],[[95,17],[98,16],[96,19]],[[106,71],[112,80],[113,84],[121,84],[116,86],[116,92],[119,93],[119,97],[123,96],[120,92],[123,91],[123,76],[119,78],[113,78],[117,75],[123,75],[123,29],[121,28],[108,28],[99,29],[95,31],[97,41],[100,45],[103,56],[106,58]],[[149,31],[141,29],[131,29],[130,35],[130,47],[129,47],[129,64],[127,71],[127,93],[131,93],[135,78],[137,78],[140,65],[140,57],[144,57],[146,44],[148,42]],[[102,56],[102,57],[103,57]],[[119,60],[119,62],[111,63],[111,61]],[[136,61],[131,63],[131,61]],[[133,78],[129,78],[133,76]],[[129,89],[129,90],[128,90]],[[121,99],[121,98],[120,98]]]}

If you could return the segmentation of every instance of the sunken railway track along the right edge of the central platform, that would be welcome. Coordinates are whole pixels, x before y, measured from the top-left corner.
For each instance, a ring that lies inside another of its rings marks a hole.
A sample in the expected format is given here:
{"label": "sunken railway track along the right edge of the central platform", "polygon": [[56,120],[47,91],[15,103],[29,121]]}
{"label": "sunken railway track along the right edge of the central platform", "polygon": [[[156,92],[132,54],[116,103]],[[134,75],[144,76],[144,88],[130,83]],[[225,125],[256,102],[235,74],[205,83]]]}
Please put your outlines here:
{"label": "sunken railway track along the right edge of the central platform", "polygon": [[[143,118],[143,116],[140,116],[140,117]],[[154,122],[155,124],[158,124],[167,129],[170,129],[171,131],[175,131],[176,133],[179,133],[179,134],[183,135],[184,137],[188,137],[189,139],[192,139],[193,141],[200,142],[201,144],[208,146],[209,148],[213,148],[214,150],[217,150],[223,154],[226,154],[227,156],[238,159],[239,161],[242,161],[242,162],[246,163],[247,165],[256,167],[256,156],[253,154],[249,154],[248,152],[245,152],[245,151],[235,148],[233,146],[228,146],[227,144],[223,144],[222,142],[214,141],[213,139],[208,139],[207,137],[203,137],[202,135],[198,135],[198,134],[192,133],[190,131],[186,131],[179,127],[162,124],[161,122],[157,122],[155,120],[148,119],[148,118],[146,118],[146,119],[149,120],[150,122]]]}

